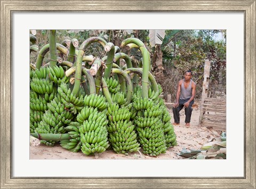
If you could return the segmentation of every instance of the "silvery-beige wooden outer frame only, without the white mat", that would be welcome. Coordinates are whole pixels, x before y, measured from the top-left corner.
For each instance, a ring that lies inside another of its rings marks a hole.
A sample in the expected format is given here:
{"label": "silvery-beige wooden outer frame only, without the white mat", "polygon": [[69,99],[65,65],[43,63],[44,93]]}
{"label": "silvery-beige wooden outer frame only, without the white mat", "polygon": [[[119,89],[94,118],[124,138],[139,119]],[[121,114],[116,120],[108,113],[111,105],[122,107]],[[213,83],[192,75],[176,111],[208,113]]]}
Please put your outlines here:
{"label": "silvery-beige wooden outer frame only, without the white mat", "polygon": [[[1,188],[255,188],[255,4],[256,1],[1,1]],[[245,15],[245,176],[243,178],[63,178],[12,177],[13,11],[243,12]],[[83,7],[83,10],[81,10]],[[97,10],[95,9],[97,7]],[[9,66],[6,66],[9,65]]]}

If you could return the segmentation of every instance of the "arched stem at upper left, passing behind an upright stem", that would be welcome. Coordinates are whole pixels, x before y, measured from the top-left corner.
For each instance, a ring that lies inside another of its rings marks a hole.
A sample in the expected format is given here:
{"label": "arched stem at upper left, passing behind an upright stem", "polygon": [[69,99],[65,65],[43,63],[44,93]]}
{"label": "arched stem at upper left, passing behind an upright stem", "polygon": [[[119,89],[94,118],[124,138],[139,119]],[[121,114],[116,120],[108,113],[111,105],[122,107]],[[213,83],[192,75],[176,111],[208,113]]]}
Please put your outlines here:
{"label": "arched stem at upper left, passing behind an upright stem", "polygon": [[[66,55],[67,55],[68,49],[67,49],[65,46],[63,46],[63,45],[57,43],[57,44],[56,44],[56,48],[57,48],[57,50],[60,51],[62,54],[66,54]],[[41,48],[41,50],[38,52],[37,59],[36,59],[36,68],[37,68],[37,69],[40,69],[40,68],[42,67],[43,60],[44,60],[44,56],[45,56],[45,54],[46,54],[47,52],[49,52],[49,50],[50,50],[50,44],[46,44],[46,45],[43,46],[43,47]]]}

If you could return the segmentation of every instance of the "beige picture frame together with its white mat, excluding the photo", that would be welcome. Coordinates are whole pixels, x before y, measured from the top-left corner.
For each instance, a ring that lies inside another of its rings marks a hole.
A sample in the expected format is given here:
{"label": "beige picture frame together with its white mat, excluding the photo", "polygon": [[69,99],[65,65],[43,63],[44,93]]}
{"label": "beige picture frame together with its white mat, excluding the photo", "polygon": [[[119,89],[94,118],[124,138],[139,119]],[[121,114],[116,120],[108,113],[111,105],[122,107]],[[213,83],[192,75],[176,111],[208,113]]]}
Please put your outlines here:
{"label": "beige picture frame together with its white mat, excluding the photo", "polygon": [[[1,188],[255,188],[254,1],[1,1]],[[227,31],[227,159],[29,159],[31,29]]]}

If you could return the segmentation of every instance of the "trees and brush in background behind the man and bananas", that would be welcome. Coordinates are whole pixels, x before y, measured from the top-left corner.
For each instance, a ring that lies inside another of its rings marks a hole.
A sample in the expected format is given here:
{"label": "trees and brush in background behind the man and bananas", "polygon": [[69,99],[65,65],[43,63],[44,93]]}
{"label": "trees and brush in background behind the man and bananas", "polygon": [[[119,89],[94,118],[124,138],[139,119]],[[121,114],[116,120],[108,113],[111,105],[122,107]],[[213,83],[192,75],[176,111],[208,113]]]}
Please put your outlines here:
{"label": "trees and brush in background behind the man and bananas", "polygon": [[[49,30],[34,32],[40,50],[49,43]],[[166,100],[169,94],[171,102],[175,101],[178,81],[188,69],[192,71],[197,84],[195,100],[201,98],[204,62],[210,60],[209,96],[226,94],[226,30],[57,30],[56,36],[57,43],[76,38],[79,44],[89,37],[98,36],[116,46],[120,46],[126,38],[139,38],[150,53],[151,71],[163,88],[164,98]],[[121,51],[137,60],[141,59],[141,53],[134,48]],[[85,55],[90,54],[100,58],[106,55],[97,43],[90,45],[85,52]],[[30,63],[35,63],[36,57],[37,53],[31,52]],[[47,62],[49,59],[46,55],[43,64]]]}

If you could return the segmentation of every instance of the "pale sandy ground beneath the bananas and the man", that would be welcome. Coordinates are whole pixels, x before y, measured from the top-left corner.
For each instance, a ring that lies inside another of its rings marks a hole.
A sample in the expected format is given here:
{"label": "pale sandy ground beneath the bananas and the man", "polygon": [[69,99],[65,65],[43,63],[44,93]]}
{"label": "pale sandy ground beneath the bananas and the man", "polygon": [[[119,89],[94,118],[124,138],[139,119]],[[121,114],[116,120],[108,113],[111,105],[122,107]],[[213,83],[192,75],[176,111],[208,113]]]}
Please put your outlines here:
{"label": "pale sandy ground beneath the bananas and the man", "polygon": [[[170,110],[171,116],[172,111]],[[57,144],[53,147],[39,145],[30,146],[30,159],[184,159],[179,156],[183,148],[199,150],[202,145],[211,142],[215,137],[220,137],[221,133],[215,132],[212,129],[205,127],[198,127],[199,121],[199,109],[194,109],[191,117],[190,128],[185,127],[185,112],[180,111],[180,125],[174,126],[174,132],[177,135],[178,145],[170,149],[167,149],[165,154],[160,154],[157,157],[149,157],[142,153],[135,152],[130,155],[116,154],[113,150],[107,150],[101,154],[86,156],[81,151],[74,153],[68,150],[62,149]],[[173,118],[171,122],[173,122]]]}

